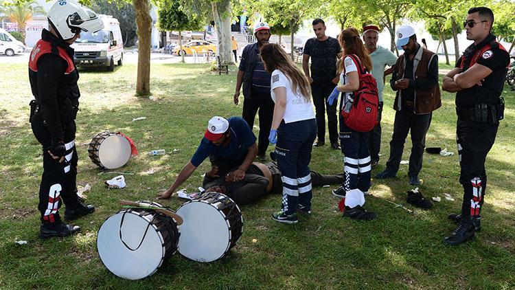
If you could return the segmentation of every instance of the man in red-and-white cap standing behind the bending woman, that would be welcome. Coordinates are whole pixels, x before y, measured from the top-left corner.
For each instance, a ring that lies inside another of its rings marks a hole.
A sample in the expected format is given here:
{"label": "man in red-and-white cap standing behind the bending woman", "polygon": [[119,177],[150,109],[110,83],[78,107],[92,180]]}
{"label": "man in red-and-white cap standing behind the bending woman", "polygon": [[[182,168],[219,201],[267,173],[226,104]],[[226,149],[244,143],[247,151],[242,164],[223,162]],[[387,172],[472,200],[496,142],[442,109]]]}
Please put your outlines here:
{"label": "man in red-and-white cap standing behind the bending woman", "polygon": [[260,49],[270,39],[270,27],[268,23],[259,21],[254,25],[254,36],[257,43],[247,45],[242,52],[238,77],[236,78],[236,92],[234,104],[240,102],[240,89],[243,85],[243,113],[242,117],[251,127],[254,126],[255,114],[260,117],[260,134],[258,142],[258,157],[260,161],[266,161],[266,149],[268,148],[268,135],[272,126],[274,103],[270,96],[271,74],[265,71],[260,57]]}

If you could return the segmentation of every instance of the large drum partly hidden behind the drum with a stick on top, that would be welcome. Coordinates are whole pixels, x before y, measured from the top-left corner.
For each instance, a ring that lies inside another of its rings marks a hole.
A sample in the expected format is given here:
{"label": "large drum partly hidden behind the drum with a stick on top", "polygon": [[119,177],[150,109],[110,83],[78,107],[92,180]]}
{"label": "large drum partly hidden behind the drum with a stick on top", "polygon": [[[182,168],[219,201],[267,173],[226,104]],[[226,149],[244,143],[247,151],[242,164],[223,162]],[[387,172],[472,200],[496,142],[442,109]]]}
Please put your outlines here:
{"label": "large drum partly hidden behind the drum with a stick on top", "polygon": [[243,233],[238,205],[224,194],[209,192],[177,209],[181,225],[179,253],[198,262],[222,258]]}

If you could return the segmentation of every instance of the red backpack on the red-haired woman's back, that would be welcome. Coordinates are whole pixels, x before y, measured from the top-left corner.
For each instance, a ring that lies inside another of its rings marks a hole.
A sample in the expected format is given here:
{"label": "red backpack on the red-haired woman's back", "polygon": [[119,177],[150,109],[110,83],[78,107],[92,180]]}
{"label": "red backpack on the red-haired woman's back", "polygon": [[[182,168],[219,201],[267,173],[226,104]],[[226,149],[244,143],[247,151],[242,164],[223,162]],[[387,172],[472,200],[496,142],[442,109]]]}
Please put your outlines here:
{"label": "red backpack on the red-haired woman's back", "polygon": [[359,88],[354,91],[354,101],[350,111],[341,111],[343,121],[352,130],[358,132],[369,132],[377,124],[379,97],[377,83],[372,76],[361,64],[358,56],[355,54],[347,54],[358,67]]}

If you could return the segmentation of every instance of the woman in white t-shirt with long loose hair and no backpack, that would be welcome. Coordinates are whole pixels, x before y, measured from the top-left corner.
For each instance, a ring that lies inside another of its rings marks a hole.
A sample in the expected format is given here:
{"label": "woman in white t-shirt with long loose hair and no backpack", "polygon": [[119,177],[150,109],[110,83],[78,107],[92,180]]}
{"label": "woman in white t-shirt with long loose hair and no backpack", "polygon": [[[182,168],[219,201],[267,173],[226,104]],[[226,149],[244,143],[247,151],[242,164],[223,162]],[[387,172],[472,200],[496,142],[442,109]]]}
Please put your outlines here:
{"label": "woman in white t-shirt with long loose hair and no backpack", "polygon": [[282,172],[282,209],[272,214],[280,223],[297,223],[297,211],[311,213],[311,148],[317,137],[310,84],[304,73],[279,45],[262,47],[264,68],[272,74],[273,110],[271,144],[276,144],[277,166]]}

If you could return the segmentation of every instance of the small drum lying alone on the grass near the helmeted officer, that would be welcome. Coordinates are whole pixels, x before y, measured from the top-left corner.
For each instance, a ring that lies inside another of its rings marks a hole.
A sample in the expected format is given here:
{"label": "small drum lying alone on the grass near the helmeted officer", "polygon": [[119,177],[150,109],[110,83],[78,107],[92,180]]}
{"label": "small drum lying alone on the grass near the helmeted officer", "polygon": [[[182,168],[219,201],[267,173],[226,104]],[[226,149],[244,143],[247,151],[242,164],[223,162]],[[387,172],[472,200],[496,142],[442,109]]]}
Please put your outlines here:
{"label": "small drum lying alone on the grass near the helmeted officer", "polygon": [[91,161],[102,168],[119,168],[130,159],[130,143],[119,133],[105,131],[93,137],[88,153]]}

